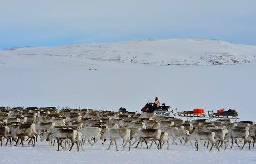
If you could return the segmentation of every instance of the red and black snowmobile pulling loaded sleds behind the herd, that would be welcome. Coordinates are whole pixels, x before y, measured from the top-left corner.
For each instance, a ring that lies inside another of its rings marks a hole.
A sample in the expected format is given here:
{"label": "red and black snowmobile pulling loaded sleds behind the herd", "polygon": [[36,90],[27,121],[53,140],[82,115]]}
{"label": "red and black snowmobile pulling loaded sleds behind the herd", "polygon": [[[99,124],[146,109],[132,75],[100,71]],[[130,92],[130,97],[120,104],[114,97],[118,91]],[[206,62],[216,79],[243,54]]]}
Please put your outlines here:
{"label": "red and black snowmobile pulling loaded sleds behind the herd", "polygon": [[157,109],[155,109],[153,103],[147,103],[143,108],[141,108],[141,112],[156,113],[158,115],[169,116],[171,114],[170,109],[171,107],[165,105],[165,103],[163,103],[162,106]]}

